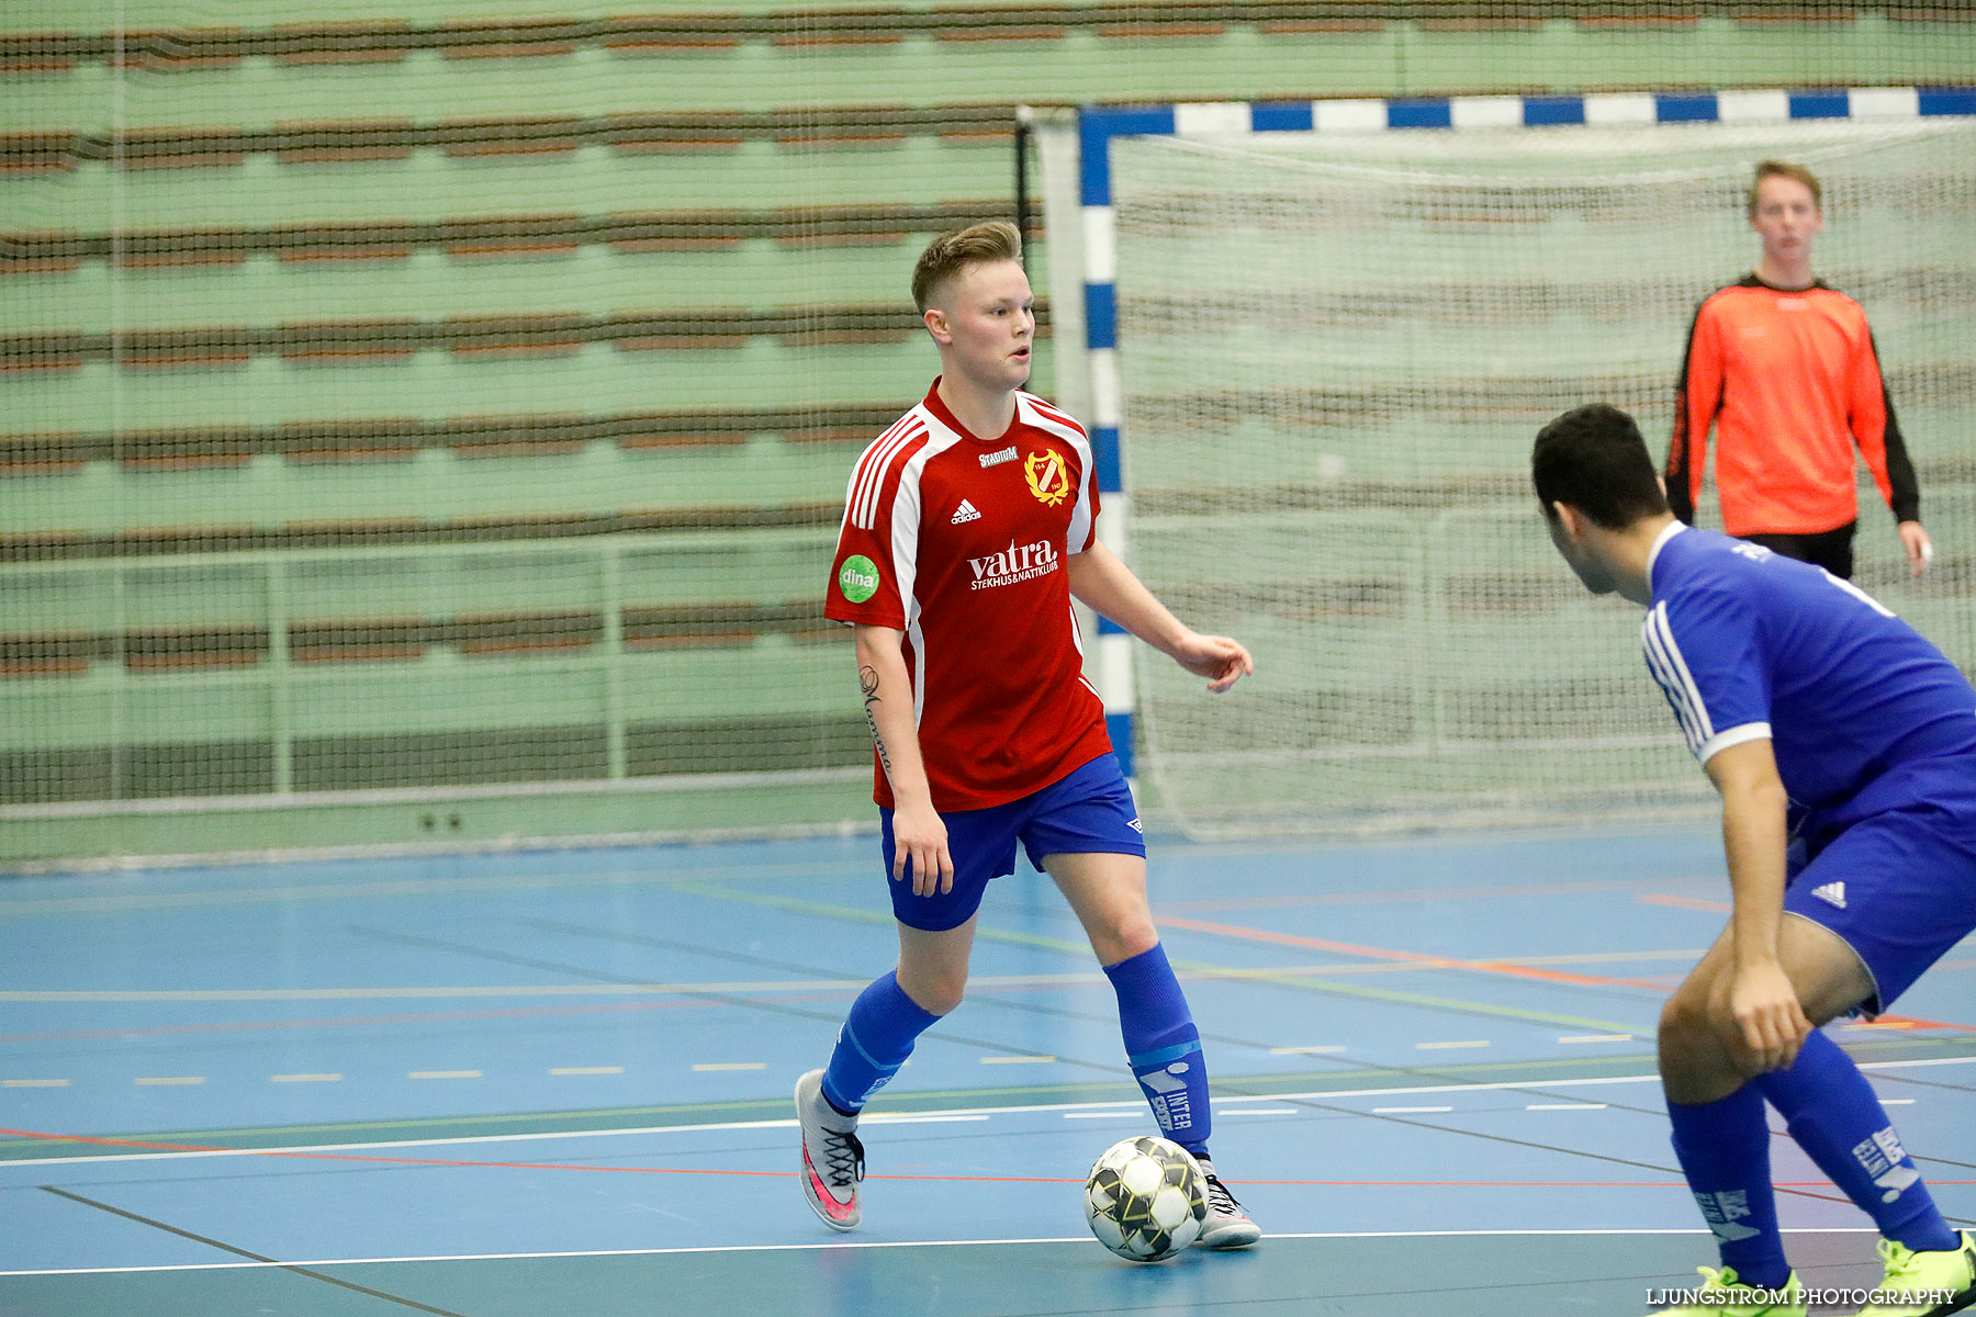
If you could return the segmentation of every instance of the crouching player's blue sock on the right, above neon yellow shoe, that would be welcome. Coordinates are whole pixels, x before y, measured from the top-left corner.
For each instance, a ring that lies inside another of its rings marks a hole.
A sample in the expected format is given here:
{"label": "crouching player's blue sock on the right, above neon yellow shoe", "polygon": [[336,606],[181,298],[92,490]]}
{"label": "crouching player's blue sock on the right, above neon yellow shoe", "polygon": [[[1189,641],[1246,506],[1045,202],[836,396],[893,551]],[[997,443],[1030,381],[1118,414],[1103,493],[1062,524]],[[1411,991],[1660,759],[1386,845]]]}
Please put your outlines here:
{"label": "crouching player's blue sock on the right, above neon yellow shoe", "polygon": [[1881,1234],[1915,1252],[1956,1248],[1956,1232],[1921,1183],[1873,1086],[1838,1043],[1814,1029],[1788,1070],[1755,1084],[1788,1122],[1798,1147]]}

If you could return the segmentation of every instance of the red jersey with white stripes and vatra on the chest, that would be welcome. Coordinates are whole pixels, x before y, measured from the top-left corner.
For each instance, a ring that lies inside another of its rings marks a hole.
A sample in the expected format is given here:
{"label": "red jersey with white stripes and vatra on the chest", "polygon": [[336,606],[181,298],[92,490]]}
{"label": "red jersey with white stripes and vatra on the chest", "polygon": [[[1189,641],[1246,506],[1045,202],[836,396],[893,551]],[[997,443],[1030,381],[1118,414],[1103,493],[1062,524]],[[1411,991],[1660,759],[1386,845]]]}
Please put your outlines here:
{"label": "red jersey with white stripes and vatra on the chest", "polygon": [[[1067,415],[1018,393],[1010,428],[978,438],[939,383],[858,458],[824,614],[905,632],[933,808],[986,810],[1111,752],[1065,573],[1099,490]],[[875,754],[873,774],[891,808]]]}

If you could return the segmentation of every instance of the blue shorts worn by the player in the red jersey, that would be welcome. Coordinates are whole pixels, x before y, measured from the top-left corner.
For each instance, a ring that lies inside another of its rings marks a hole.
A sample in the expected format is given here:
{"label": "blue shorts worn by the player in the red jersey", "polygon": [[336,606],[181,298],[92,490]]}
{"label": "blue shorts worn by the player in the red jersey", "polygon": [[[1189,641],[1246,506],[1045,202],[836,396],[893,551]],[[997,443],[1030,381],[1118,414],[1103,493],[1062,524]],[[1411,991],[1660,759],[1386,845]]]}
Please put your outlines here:
{"label": "blue shorts worn by the player in the red jersey", "polygon": [[982,904],[990,879],[1016,873],[1016,841],[1037,869],[1049,855],[1146,855],[1132,788],[1124,782],[1116,754],[1101,754],[1083,768],[1057,778],[1039,792],[986,810],[941,813],[947,823],[947,853],[954,859],[954,891],[913,894],[913,863],[905,879],[891,879],[897,847],[891,839],[891,810],[881,808],[881,853],[891,912],[907,928],[941,932],[960,928]]}

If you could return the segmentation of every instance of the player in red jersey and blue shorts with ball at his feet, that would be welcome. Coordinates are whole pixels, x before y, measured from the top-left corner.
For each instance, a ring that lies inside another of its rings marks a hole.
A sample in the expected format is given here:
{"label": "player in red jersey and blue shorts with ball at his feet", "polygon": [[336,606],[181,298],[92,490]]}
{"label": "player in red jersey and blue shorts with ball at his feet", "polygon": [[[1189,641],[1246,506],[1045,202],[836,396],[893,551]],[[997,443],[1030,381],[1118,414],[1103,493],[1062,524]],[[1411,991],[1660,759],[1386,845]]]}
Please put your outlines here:
{"label": "player in red jersey and blue shorts with ball at his feet", "polygon": [[1118,997],[1126,1056],[1162,1133],[1207,1173],[1207,1248],[1263,1232],[1207,1157],[1201,1035],[1146,904],[1138,810],[1083,675],[1071,596],[1225,691],[1255,671],[1097,541],[1083,426],[1024,393],[1035,338],[1010,223],[921,255],[913,300],[941,351],[919,407],[852,472],[826,614],[856,626],[899,966],[852,1005],[830,1066],[796,1080],[802,1185],[832,1230],[862,1218],[858,1114],[960,1005],[988,881],[1016,843],[1077,912]]}

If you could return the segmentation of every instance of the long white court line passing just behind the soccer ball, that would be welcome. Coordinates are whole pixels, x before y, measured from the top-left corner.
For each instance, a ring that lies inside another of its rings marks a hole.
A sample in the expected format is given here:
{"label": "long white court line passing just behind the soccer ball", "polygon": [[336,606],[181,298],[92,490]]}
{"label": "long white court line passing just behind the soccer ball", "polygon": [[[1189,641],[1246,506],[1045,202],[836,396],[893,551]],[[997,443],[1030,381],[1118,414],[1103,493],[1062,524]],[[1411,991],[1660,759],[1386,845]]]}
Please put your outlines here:
{"label": "long white court line passing just behind the soccer ball", "polygon": [[[1911,1070],[1921,1066],[1968,1066],[1976,1064],[1976,1056],[1927,1056],[1921,1060],[1867,1060],[1859,1062],[1861,1070]],[[1605,1078],[1583,1078],[1583,1080],[1502,1080],[1492,1084],[1417,1084],[1413,1088],[1334,1088],[1334,1090],[1312,1090],[1296,1094],[1247,1094],[1217,1098],[1215,1104],[1223,1102],[1336,1102],[1340,1098],[1399,1098],[1417,1094],[1464,1094],[1464,1092],[1502,1092],[1506,1088],[1585,1088],[1591,1084],[1658,1084],[1658,1074],[1610,1074]],[[990,1108],[950,1108],[937,1112],[915,1112],[913,1116],[1026,1116],[1035,1112],[1138,1112],[1140,1102],[1039,1102],[1029,1106],[990,1106]],[[877,1114],[867,1114],[865,1120],[877,1120]],[[468,1133],[447,1139],[377,1139],[371,1143],[294,1143],[279,1147],[213,1147],[198,1151],[156,1151],[156,1153],[103,1153],[97,1157],[0,1157],[0,1169],[6,1167],[61,1167],[79,1163],[111,1163],[111,1161],[172,1161],[172,1159],[194,1159],[194,1157],[267,1157],[281,1153],[358,1153],[358,1151],[377,1151],[389,1147],[462,1147],[468,1143],[545,1143],[551,1139],[618,1139],[618,1137],[648,1137],[656,1133],[709,1133],[709,1131],[739,1131],[739,1129],[794,1129],[796,1122],[792,1118],[784,1120],[717,1120],[696,1125],[632,1125],[626,1129],[543,1129],[535,1133]],[[4,1272],[0,1272],[4,1276]]]}

